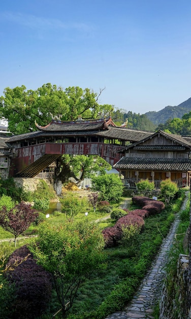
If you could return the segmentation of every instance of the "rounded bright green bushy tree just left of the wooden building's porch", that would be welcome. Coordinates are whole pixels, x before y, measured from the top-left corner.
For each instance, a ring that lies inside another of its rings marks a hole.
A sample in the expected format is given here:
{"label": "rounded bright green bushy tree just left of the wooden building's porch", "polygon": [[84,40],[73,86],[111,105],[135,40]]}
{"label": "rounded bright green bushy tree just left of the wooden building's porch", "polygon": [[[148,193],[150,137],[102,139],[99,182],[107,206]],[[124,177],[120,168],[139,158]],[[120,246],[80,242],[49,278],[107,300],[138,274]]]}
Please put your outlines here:
{"label": "rounded bright green bushy tree just left of the wooden building's porch", "polygon": [[91,179],[92,190],[100,192],[103,200],[118,202],[123,192],[123,184],[115,174],[94,176]]}

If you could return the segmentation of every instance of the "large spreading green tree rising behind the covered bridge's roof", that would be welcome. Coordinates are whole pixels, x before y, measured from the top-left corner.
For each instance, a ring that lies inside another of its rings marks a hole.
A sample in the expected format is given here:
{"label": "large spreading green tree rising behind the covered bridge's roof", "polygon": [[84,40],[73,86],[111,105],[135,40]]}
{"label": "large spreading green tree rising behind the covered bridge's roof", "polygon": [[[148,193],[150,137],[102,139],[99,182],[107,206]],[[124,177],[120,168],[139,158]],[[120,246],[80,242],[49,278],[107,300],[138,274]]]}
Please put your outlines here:
{"label": "large spreading green tree rising behind the covered bridge's roof", "polygon": [[14,134],[36,130],[35,121],[47,125],[52,115],[66,121],[76,120],[79,115],[84,119],[97,118],[113,109],[112,105],[99,104],[102,91],[95,93],[79,87],[63,89],[50,83],[37,90],[27,90],[24,85],[8,87],[0,97],[0,117],[9,120],[9,130]]}

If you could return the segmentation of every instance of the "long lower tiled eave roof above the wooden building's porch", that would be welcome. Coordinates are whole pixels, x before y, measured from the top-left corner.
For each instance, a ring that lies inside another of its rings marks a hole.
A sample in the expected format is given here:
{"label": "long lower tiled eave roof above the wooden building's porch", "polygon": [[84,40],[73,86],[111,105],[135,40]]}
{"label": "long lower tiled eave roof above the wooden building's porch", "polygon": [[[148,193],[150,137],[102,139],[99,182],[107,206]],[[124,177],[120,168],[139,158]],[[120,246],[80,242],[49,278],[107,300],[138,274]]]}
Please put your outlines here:
{"label": "long lower tiled eave roof above the wooden building's porch", "polygon": [[113,168],[131,170],[191,171],[189,158],[122,157]]}

